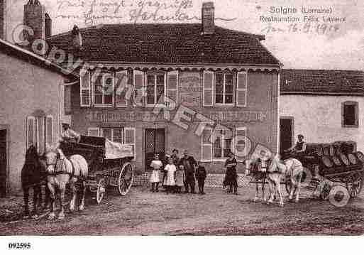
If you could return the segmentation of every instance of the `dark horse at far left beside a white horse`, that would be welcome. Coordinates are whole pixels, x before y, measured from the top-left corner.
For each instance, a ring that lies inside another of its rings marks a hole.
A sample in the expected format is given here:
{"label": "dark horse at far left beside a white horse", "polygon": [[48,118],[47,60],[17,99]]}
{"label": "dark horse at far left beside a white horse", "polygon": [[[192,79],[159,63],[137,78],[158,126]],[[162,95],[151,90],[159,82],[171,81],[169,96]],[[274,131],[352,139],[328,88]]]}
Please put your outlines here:
{"label": "dark horse at far left beside a white horse", "polygon": [[[21,169],[21,186],[24,195],[24,217],[29,217],[29,190],[33,188],[33,217],[37,217],[38,207],[41,207],[43,202],[42,185],[46,184],[45,165],[40,161],[37,148],[30,146],[26,151],[26,162]],[[50,202],[50,192],[45,187],[45,205],[44,210]]]}

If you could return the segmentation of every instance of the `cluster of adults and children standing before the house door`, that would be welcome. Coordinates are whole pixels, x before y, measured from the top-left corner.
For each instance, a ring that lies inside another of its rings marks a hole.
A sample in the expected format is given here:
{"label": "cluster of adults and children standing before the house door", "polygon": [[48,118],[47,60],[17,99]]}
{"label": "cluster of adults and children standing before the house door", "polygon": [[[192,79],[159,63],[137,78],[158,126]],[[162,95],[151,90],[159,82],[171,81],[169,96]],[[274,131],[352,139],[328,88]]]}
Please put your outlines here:
{"label": "cluster of adults and children standing before the house door", "polygon": [[158,186],[162,185],[167,194],[170,192],[195,193],[195,183],[197,180],[199,194],[204,195],[204,182],[206,179],[206,169],[201,161],[196,161],[194,157],[188,155],[188,151],[183,152],[182,158],[178,156],[178,150],[174,149],[172,155],[165,156],[165,163],[160,159],[158,153],[155,154],[150,163],[152,173],[150,175],[151,191],[158,192]]}

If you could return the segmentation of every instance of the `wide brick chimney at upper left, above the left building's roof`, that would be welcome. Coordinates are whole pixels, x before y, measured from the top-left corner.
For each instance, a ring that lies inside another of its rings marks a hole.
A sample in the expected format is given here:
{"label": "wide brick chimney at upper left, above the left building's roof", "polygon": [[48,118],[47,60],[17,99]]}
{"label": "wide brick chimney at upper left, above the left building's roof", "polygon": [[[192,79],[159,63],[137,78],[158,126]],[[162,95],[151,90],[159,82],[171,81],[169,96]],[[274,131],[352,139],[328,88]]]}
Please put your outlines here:
{"label": "wide brick chimney at upper left, above the left building's roof", "polygon": [[45,9],[38,0],[29,0],[24,5],[24,25],[33,28],[33,37],[24,35],[29,41],[45,39]]}

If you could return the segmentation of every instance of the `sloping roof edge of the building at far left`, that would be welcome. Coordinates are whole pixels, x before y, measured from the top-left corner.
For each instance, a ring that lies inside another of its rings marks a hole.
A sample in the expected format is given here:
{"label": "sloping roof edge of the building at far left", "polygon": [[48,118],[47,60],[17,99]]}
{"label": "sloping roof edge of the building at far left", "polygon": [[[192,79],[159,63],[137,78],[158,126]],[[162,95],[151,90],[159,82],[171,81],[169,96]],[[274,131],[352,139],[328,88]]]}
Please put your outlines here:
{"label": "sloping roof edge of the building at far left", "polygon": [[0,39],[0,51],[5,53],[6,55],[13,55],[29,63],[52,70],[54,72],[58,72],[65,77],[72,78],[72,80],[78,77],[78,75],[76,75],[75,73],[68,72],[60,65],[52,63],[49,60],[41,57],[40,55],[36,55],[35,53],[32,53],[31,51],[26,50],[24,48],[21,48],[18,45],[9,43],[6,40]]}

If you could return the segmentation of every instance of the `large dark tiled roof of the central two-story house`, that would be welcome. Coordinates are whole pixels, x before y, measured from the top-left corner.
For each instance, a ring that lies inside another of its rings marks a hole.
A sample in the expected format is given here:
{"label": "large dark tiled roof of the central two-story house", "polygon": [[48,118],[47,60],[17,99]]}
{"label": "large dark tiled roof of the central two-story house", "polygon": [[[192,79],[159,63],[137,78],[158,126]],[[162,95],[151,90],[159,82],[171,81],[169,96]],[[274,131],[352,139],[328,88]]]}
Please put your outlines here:
{"label": "large dark tiled roof of the central two-story house", "polygon": [[[216,26],[202,35],[201,24],[110,24],[81,28],[86,62],[206,63],[280,65],[260,43],[264,36]],[[52,36],[50,45],[70,50],[71,32]]]}

